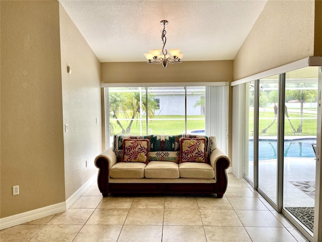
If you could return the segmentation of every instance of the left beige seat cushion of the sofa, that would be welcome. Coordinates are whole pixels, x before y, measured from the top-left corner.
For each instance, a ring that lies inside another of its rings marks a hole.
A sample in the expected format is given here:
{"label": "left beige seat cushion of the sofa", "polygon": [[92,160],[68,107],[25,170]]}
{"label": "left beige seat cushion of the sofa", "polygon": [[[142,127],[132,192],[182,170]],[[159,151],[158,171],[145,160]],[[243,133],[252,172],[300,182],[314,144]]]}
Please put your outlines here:
{"label": "left beige seat cushion of the sofa", "polygon": [[141,162],[118,162],[110,169],[112,178],[143,178],[145,163]]}

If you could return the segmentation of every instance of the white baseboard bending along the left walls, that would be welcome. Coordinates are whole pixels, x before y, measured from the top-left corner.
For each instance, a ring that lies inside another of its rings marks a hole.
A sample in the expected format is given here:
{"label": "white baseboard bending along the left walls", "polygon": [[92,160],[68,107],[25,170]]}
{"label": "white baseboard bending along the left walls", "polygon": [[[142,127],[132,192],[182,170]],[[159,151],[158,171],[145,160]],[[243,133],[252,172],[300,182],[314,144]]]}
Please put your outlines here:
{"label": "white baseboard bending along the left walls", "polygon": [[94,183],[97,174],[92,176],[81,188],[71,195],[65,202],[37,208],[24,213],[15,214],[9,217],[0,218],[0,229],[9,228],[35,219],[43,218],[56,213],[66,211],[82,194]]}

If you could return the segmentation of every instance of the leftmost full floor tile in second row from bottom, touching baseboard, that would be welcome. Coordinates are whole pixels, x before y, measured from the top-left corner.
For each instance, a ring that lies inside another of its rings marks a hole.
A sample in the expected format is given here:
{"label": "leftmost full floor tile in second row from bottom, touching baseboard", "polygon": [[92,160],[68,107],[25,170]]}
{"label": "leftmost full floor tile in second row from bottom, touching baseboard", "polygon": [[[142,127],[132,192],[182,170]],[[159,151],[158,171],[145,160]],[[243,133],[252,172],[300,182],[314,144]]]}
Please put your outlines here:
{"label": "leftmost full floor tile in second row from bottom, touching baseboard", "polygon": [[57,213],[47,225],[84,225],[95,209],[77,208]]}

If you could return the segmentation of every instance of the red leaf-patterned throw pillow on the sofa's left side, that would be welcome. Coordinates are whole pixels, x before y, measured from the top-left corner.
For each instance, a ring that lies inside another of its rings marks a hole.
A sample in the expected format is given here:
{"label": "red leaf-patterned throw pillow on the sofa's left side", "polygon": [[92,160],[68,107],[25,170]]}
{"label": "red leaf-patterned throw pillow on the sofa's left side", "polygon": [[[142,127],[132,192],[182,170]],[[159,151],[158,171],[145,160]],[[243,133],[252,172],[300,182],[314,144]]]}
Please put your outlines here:
{"label": "red leaf-patterned throw pillow on the sofa's left side", "polygon": [[123,139],[123,153],[121,162],[148,163],[148,139]]}

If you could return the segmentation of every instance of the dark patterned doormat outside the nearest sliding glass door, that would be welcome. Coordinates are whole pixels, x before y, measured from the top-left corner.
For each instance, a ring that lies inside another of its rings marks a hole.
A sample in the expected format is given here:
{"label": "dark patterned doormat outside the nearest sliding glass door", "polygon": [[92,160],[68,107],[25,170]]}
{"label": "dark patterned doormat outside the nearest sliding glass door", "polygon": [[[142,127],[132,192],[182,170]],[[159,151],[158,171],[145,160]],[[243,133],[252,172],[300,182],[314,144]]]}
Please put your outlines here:
{"label": "dark patterned doormat outside the nearest sliding glass door", "polygon": [[285,209],[313,232],[314,207],[285,207]]}

